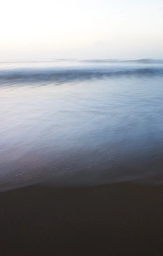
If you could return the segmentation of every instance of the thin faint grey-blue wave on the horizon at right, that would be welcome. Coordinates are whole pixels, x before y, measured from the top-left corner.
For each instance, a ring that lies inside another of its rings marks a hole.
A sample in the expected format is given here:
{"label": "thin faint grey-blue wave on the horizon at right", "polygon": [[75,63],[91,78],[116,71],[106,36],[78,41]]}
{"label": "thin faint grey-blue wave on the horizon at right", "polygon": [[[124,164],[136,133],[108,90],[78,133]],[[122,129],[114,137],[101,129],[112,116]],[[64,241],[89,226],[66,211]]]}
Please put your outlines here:
{"label": "thin faint grey-blue wave on the horizon at right", "polygon": [[129,63],[142,63],[142,64],[163,64],[163,59],[135,59],[135,60],[116,60],[116,59],[86,59],[81,62],[90,63],[118,63],[118,62],[129,62]]}

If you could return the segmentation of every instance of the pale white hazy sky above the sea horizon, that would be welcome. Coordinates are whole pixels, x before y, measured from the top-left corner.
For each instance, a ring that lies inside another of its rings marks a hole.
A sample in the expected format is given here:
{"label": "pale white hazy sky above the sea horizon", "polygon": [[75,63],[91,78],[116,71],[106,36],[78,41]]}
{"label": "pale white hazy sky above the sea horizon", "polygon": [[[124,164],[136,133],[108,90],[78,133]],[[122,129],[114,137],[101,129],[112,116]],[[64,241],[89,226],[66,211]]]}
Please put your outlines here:
{"label": "pale white hazy sky above the sea horizon", "polygon": [[163,58],[163,0],[2,0],[0,60]]}

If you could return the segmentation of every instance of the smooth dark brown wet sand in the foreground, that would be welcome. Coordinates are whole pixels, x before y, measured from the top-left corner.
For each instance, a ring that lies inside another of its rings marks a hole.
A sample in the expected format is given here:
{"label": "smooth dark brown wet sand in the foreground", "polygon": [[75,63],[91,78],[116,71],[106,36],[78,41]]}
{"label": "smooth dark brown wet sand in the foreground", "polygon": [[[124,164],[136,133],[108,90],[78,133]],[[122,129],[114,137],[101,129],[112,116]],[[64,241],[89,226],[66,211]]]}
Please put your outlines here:
{"label": "smooth dark brown wet sand in the foreground", "polygon": [[163,255],[163,187],[31,186],[0,194],[0,255]]}

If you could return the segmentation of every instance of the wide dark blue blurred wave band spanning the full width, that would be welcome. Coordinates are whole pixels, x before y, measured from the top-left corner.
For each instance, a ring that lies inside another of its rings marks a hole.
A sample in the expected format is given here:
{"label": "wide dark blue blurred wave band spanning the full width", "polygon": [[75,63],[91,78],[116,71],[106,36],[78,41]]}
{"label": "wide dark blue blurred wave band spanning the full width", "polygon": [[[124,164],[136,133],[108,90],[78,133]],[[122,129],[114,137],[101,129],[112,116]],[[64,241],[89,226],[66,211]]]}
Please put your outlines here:
{"label": "wide dark blue blurred wave band spanning the full width", "polygon": [[0,83],[21,83],[21,82],[67,82],[67,81],[81,81],[87,79],[103,79],[106,77],[121,77],[121,76],[162,76],[162,67],[135,67],[135,68],[115,68],[115,69],[79,69],[79,68],[65,68],[63,69],[14,69],[1,70]]}

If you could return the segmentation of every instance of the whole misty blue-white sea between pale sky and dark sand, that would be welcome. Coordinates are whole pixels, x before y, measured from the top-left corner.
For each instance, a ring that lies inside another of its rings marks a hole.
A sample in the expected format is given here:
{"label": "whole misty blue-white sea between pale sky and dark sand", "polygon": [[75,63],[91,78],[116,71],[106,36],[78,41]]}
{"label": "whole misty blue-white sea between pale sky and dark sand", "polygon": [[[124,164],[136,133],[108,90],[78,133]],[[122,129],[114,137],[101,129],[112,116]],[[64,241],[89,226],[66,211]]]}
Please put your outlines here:
{"label": "whole misty blue-white sea between pale sky and dark sand", "polygon": [[0,63],[0,188],[162,183],[162,60]]}

